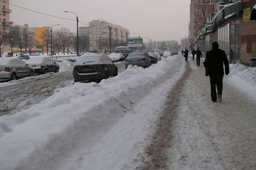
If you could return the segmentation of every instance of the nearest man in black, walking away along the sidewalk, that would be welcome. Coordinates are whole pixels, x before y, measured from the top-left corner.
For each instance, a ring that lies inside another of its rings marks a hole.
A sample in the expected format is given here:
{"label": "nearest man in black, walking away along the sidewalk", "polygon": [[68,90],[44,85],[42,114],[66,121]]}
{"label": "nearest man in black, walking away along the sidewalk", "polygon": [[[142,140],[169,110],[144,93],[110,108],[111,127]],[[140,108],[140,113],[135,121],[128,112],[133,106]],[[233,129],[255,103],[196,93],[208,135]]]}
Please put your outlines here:
{"label": "nearest man in black, walking away along the sidewalk", "polygon": [[205,75],[210,75],[211,97],[213,102],[217,102],[216,85],[218,90],[218,101],[222,100],[222,81],[225,74],[229,74],[228,58],[225,51],[219,49],[217,42],[212,43],[212,50],[208,51],[204,60]]}

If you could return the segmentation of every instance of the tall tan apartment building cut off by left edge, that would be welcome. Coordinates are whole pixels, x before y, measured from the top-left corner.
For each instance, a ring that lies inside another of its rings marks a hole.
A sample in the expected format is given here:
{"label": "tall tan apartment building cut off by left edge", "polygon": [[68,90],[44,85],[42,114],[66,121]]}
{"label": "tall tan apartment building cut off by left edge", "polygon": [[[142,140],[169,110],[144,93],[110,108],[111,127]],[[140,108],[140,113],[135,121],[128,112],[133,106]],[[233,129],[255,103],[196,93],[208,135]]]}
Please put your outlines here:
{"label": "tall tan apartment building cut off by left edge", "polygon": [[[9,0],[2,0],[0,1],[0,30],[5,29],[6,32],[10,32],[9,26],[13,24],[13,22],[10,22],[10,13],[12,10],[9,8]],[[10,49],[10,46],[8,44],[2,45],[1,52],[8,51]]]}

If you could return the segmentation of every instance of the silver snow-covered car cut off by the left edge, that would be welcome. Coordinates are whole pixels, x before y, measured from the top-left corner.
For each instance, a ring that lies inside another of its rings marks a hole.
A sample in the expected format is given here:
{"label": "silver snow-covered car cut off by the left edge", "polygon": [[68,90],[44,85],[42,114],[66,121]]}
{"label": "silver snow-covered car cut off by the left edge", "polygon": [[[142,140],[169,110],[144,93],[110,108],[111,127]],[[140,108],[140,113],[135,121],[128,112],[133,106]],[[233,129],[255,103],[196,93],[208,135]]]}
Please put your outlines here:
{"label": "silver snow-covered car cut off by the left edge", "polygon": [[0,81],[34,75],[34,68],[17,57],[0,58]]}

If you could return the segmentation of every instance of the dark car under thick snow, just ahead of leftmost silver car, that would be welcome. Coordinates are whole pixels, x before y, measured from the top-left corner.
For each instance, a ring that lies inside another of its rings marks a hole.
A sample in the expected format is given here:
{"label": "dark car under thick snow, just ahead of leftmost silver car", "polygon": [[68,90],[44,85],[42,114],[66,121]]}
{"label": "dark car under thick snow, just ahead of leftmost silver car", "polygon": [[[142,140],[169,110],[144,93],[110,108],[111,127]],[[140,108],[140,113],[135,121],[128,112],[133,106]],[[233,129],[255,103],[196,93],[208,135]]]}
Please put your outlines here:
{"label": "dark car under thick snow, just ahead of leftmost silver car", "polygon": [[54,62],[51,58],[47,56],[33,56],[27,61],[34,67],[35,73],[46,74],[49,72],[58,73],[60,66],[58,63]]}

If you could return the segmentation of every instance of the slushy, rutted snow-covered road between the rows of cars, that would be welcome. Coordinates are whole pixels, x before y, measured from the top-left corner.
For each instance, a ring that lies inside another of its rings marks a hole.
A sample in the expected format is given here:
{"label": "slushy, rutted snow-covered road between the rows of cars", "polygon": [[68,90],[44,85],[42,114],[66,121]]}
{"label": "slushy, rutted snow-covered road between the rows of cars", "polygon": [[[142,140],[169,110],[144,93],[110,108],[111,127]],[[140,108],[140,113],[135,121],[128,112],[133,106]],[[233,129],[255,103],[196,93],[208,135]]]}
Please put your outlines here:
{"label": "slushy, rutted snow-covered road between the rows of cars", "polygon": [[[71,73],[73,63],[64,59],[61,61],[61,63],[59,62],[61,66],[60,73],[38,75],[0,83],[0,117],[28,109],[52,96],[56,89],[72,85],[74,83]],[[119,73],[125,70],[124,62],[119,62],[116,65]]]}

